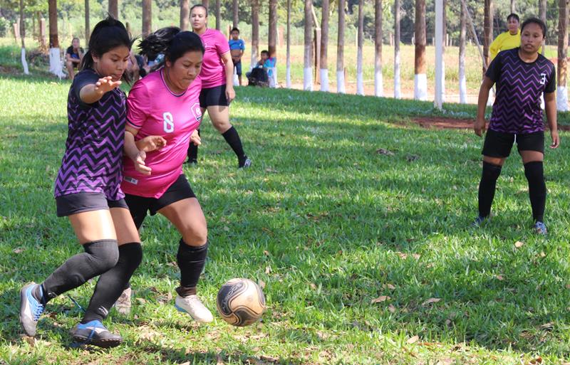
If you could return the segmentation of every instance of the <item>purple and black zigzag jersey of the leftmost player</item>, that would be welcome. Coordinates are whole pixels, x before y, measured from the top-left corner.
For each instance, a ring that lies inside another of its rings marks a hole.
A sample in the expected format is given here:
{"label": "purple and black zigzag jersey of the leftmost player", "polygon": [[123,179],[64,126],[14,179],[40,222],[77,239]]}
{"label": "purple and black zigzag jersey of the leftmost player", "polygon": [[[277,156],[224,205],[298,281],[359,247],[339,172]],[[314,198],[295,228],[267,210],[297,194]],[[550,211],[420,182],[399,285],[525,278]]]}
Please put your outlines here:
{"label": "purple and black zigzag jersey of the leftmost player", "polygon": [[125,93],[119,88],[105,92],[98,102],[79,98],[83,86],[100,76],[83,70],[69,89],[66,153],[56,178],[55,195],[103,193],[108,200],[123,199],[123,144],[125,142]]}

